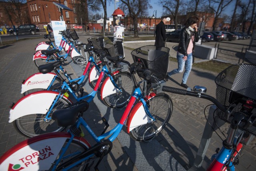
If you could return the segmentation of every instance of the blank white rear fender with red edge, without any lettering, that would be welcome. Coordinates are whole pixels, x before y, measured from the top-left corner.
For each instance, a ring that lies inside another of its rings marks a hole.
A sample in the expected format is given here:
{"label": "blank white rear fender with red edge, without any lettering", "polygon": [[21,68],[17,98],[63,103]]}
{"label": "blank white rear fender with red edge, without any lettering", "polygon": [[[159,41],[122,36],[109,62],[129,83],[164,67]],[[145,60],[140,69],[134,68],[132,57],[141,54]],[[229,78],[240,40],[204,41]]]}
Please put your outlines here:
{"label": "blank white rear fender with red edge, without any lettering", "polygon": [[[9,123],[25,115],[46,113],[57,95],[59,95],[58,92],[48,90],[25,95],[10,109]],[[62,98],[72,103],[68,97],[63,96]]]}

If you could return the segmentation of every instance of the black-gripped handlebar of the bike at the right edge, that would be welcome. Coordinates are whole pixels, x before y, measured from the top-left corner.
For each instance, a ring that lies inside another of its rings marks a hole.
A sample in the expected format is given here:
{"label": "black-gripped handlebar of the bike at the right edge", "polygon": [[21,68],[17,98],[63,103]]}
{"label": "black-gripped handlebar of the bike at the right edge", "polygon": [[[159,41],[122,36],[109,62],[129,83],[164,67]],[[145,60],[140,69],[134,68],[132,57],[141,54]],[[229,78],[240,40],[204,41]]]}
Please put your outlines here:
{"label": "black-gripped handlebar of the bike at the right edge", "polygon": [[199,98],[207,99],[209,101],[212,101],[222,111],[225,112],[227,110],[226,107],[224,107],[224,105],[222,105],[214,97],[212,97],[210,95],[207,95],[207,94],[203,94],[203,93],[199,93],[199,92],[194,92],[194,91],[188,91],[186,89],[167,87],[167,86],[163,86],[162,91],[166,91],[166,92],[170,92],[170,93],[175,93],[175,94],[180,94],[180,95],[189,95],[189,96],[194,96],[194,97],[199,97]]}

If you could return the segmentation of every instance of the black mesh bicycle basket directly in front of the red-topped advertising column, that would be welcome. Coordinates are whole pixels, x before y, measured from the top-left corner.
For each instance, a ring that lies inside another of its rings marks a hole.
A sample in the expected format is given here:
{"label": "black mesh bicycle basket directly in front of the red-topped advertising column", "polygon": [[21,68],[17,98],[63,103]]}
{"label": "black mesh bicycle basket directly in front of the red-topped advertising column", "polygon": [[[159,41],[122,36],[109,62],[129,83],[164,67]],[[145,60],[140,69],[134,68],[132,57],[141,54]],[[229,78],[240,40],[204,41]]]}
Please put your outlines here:
{"label": "black mesh bicycle basket directly in front of the red-topped advertising column", "polygon": [[108,52],[108,55],[113,58],[124,56],[124,48],[121,41],[112,42],[110,39],[107,39],[104,40],[101,46]]}

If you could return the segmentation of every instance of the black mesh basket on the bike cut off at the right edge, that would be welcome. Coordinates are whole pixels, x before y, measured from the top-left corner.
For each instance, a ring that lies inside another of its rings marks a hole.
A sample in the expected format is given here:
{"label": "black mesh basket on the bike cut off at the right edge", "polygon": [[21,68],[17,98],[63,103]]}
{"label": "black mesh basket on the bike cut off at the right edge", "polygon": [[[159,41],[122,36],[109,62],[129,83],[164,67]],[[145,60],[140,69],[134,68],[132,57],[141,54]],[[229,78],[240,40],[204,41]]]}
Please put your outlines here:
{"label": "black mesh basket on the bike cut off at the right edge", "polygon": [[[251,64],[237,64],[230,66],[220,72],[215,78],[216,83],[216,99],[226,108],[240,97],[247,97],[256,100],[256,66]],[[225,120],[224,112],[220,109],[216,111],[220,119]],[[245,115],[245,114],[244,114]],[[226,122],[230,123],[233,116],[230,116]],[[242,121],[239,125],[243,128],[246,121]],[[255,125],[256,126],[256,125]],[[256,135],[256,127],[252,126],[244,130]]]}

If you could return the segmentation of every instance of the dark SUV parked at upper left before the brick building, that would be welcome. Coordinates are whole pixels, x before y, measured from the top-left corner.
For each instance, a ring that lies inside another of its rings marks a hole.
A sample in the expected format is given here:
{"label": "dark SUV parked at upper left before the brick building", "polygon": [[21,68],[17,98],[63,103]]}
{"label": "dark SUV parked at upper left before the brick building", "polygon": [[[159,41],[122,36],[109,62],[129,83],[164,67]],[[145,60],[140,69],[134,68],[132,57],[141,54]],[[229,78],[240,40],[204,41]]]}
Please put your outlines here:
{"label": "dark SUV parked at upper left before the brick building", "polygon": [[12,28],[9,30],[10,34],[18,35],[18,34],[36,34],[36,32],[40,32],[39,28],[34,24],[24,24],[18,26],[15,30]]}

